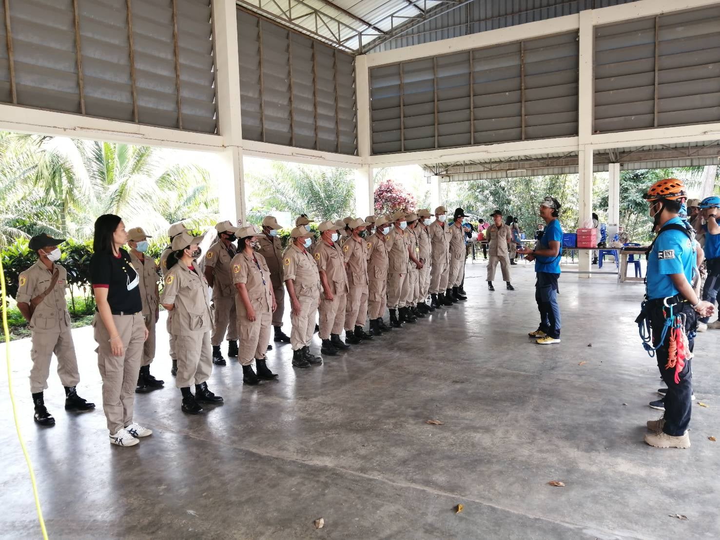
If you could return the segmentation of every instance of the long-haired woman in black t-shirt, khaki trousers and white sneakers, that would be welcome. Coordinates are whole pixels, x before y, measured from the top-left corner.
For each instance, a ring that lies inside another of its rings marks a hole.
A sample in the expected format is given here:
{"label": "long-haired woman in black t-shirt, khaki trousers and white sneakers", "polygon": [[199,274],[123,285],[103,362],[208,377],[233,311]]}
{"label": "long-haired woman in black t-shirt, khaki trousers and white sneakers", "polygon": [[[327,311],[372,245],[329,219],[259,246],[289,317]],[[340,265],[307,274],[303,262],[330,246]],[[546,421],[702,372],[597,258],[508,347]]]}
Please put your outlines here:
{"label": "long-haired woman in black t-shirt, khaki trousers and white sneakers", "polygon": [[148,330],[138,287],[140,276],[132,268],[130,255],[122,249],[125,243],[125,223],[119,216],[105,214],[97,218],[90,260],[97,304],[93,327],[102,377],[102,408],[110,442],[118,446],[138,444],[138,437],[153,433],[132,420],[135,385]]}

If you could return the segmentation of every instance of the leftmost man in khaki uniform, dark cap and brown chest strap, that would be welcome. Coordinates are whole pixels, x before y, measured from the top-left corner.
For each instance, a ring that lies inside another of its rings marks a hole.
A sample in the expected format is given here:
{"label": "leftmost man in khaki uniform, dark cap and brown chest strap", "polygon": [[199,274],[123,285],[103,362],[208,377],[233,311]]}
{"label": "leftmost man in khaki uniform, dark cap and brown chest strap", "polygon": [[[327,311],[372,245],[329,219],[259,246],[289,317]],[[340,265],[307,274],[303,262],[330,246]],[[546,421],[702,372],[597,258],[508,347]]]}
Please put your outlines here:
{"label": "leftmost man in khaki uniform, dark cap and brown chest strap", "polygon": [[20,274],[15,297],[18,310],[30,323],[30,392],[35,405],[35,422],[41,426],[55,425],[55,418],[48,413],[43,398],[43,392],[48,388],[53,353],[58,357],[58,377],[65,387],[65,410],[95,408],[94,403],[87,402],[76,391],[80,374],[65,300],[68,272],[55,264],[60,259],[58,245],[64,241],[46,234],[30,238],[30,249],[37,253],[38,260]]}

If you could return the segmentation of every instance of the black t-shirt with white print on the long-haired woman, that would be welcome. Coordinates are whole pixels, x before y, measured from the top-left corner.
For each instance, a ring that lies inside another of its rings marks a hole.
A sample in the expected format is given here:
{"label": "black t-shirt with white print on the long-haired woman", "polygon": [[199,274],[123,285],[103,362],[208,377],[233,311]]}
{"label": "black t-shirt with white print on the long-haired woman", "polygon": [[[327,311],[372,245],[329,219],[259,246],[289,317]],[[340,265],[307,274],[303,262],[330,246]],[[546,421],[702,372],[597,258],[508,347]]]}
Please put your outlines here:
{"label": "black t-shirt with white print on the long-haired woman", "polygon": [[127,290],[127,285],[138,278],[132,268],[130,255],[120,249],[120,257],[111,252],[94,253],[90,259],[90,282],[94,289],[107,289],[107,303],[113,313],[137,313],[143,310],[140,286]]}

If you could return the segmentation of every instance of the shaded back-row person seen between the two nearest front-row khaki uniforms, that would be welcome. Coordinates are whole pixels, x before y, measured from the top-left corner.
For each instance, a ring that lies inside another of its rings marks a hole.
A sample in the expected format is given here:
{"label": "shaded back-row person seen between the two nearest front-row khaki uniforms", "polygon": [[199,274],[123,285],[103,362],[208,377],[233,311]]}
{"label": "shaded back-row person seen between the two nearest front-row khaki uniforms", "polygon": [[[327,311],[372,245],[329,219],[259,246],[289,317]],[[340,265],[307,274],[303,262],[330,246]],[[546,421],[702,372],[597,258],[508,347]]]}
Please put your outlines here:
{"label": "shaded back-row person seen between the two nearest front-row khaki uniforms", "polygon": [[237,254],[233,242],[238,228],[229,221],[215,225],[217,240],[205,254],[205,279],[212,287],[212,363],[225,366],[220,351],[222,338],[228,334],[228,356],[238,356],[238,317],[235,310],[235,286],[230,261]]}

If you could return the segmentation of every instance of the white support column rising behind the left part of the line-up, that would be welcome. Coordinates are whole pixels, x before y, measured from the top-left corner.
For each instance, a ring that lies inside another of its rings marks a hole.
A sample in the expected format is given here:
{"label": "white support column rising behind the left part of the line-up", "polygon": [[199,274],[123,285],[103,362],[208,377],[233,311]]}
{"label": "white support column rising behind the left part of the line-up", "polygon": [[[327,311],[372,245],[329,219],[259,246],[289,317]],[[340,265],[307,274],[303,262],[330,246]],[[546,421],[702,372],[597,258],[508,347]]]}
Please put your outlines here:
{"label": "white support column rising behind the left part of the line-up", "polygon": [[217,153],[215,181],[220,193],[220,219],[245,220],[243,130],[240,121],[238,8],[235,0],[212,0],[215,25],[217,119],[224,149]]}

